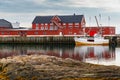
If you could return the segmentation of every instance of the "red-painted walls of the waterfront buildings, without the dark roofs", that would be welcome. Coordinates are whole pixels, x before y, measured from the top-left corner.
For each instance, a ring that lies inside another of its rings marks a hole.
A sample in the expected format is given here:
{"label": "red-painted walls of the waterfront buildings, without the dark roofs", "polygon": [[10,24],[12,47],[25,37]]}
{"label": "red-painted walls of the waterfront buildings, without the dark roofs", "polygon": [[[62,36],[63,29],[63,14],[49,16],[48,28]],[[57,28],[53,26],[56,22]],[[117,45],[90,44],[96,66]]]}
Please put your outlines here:
{"label": "red-painted walls of the waterfront buildings, without the dark roofs", "polygon": [[[98,27],[85,27],[85,18],[83,17],[80,23],[62,23],[58,16],[54,16],[51,21],[55,21],[53,23],[53,28],[57,27],[57,29],[51,30],[51,24],[32,24],[31,30],[16,30],[16,29],[3,29],[0,28],[0,35],[59,35],[60,32],[64,35],[83,35],[85,29],[85,33],[88,36],[94,36],[96,33],[102,31],[102,35],[115,35],[115,27],[103,26],[102,28]],[[37,26],[37,28],[36,28]],[[63,27],[63,28],[62,28]],[[43,29],[42,29],[43,28]],[[46,29],[47,28],[47,29]]]}

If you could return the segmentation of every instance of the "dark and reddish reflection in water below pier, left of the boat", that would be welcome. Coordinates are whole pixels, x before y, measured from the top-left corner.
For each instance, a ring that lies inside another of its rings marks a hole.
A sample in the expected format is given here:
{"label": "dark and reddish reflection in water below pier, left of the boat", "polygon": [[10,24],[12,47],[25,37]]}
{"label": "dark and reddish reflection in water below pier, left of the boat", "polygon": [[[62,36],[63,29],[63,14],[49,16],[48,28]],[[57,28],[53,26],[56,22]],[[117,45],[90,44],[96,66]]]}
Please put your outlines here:
{"label": "dark and reddish reflection in water below pier, left of the boat", "polygon": [[15,55],[42,54],[68,58],[74,53],[72,45],[0,45],[0,58]]}

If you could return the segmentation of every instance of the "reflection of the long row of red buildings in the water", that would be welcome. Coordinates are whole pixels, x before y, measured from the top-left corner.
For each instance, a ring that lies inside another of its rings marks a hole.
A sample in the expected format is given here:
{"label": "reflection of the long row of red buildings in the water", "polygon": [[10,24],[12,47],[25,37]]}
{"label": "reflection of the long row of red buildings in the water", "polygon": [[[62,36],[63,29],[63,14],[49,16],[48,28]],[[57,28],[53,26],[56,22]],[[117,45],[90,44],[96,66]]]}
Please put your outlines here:
{"label": "reflection of the long row of red buildings in the water", "polygon": [[[56,46],[54,46],[55,48]],[[79,61],[84,61],[86,59],[104,59],[104,60],[114,60],[115,51],[109,49],[109,46],[80,46],[72,48],[56,48],[50,49],[47,46],[42,48],[41,46],[37,47],[28,47],[25,46],[15,46],[15,47],[6,47],[0,46],[0,58],[5,58],[7,56],[14,55],[24,55],[24,54],[43,54],[49,56],[56,56],[61,58],[72,58]]]}

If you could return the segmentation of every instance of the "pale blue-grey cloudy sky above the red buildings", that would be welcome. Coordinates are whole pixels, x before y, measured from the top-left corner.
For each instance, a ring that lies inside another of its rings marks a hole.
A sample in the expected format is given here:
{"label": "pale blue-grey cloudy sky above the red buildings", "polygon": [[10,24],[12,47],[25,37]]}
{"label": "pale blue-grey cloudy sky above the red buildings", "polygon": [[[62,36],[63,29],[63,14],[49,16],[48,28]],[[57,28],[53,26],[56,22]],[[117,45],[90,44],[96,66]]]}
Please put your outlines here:
{"label": "pale blue-grey cloudy sky above the red buildings", "polygon": [[84,14],[87,26],[96,26],[97,16],[99,24],[116,26],[120,33],[120,0],[0,0],[0,18],[23,27],[31,27],[35,16],[74,13]]}

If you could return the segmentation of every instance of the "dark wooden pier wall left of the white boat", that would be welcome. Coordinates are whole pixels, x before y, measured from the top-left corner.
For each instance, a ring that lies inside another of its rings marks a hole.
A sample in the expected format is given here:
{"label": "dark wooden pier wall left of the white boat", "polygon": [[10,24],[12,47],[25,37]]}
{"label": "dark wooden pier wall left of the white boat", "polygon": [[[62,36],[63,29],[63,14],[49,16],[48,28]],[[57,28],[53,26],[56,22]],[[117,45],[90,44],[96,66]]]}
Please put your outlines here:
{"label": "dark wooden pier wall left of the white boat", "polygon": [[74,45],[73,37],[0,37],[0,43],[10,44],[71,44]]}

